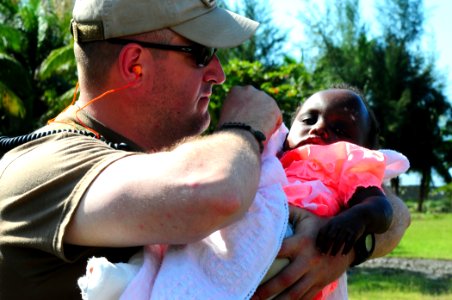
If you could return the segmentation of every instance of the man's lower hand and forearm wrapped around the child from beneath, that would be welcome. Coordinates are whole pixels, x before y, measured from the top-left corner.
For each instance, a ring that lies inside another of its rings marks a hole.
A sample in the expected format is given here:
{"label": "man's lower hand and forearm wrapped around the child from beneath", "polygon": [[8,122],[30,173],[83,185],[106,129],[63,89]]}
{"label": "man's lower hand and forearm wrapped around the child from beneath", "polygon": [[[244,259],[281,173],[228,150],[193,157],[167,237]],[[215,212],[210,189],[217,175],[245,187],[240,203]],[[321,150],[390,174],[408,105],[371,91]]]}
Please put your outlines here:
{"label": "man's lower hand and forearm wrapped around the child from beneath", "polygon": [[[394,218],[384,234],[378,235],[373,258],[391,252],[410,224],[410,214],[403,201],[385,189]],[[347,255],[321,255],[315,247],[318,230],[327,218],[317,217],[303,209],[290,207],[295,234],[284,240],[278,257],[289,258],[290,264],[278,275],[260,286],[253,299],[312,299],[325,285],[337,279],[353,262],[354,251]]]}

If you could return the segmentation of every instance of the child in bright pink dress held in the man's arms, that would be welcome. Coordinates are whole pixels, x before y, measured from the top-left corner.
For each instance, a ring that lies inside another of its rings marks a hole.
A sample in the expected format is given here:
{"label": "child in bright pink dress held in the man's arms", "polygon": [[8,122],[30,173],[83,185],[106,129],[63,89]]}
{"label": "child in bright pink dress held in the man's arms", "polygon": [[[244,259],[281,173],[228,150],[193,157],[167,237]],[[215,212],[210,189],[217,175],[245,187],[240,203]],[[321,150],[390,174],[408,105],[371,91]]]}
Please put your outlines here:
{"label": "child in bright pink dress held in the man's arms", "polygon": [[[376,149],[378,127],[362,97],[351,89],[320,91],[295,115],[285,143],[291,150],[281,157],[289,181],[284,191],[292,205],[335,216],[320,229],[317,247],[324,254],[347,254],[361,237],[372,238],[389,228],[392,208],[381,190],[382,180],[406,171],[408,160],[395,151],[367,149]],[[364,256],[356,250],[353,265],[373,249]],[[336,285],[328,285],[316,298],[326,298]]]}

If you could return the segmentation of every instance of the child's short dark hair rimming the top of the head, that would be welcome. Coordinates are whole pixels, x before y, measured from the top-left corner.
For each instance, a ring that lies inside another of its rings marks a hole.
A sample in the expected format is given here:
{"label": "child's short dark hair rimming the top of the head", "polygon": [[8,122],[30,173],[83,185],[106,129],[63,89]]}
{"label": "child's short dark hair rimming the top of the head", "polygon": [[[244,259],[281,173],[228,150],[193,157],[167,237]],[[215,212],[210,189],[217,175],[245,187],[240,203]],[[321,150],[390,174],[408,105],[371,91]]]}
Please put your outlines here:
{"label": "child's short dark hair rimming the top of the head", "polygon": [[[369,121],[370,121],[369,122],[369,133],[367,135],[367,141],[364,146],[369,149],[378,149],[380,146],[379,142],[378,142],[379,136],[380,136],[380,126],[378,124],[377,118],[375,117],[373,110],[370,108],[369,104],[367,103],[364,93],[357,87],[352,86],[348,83],[344,83],[344,82],[332,84],[328,89],[349,90],[349,91],[352,91],[354,94],[356,94],[359,98],[361,98],[364,105],[366,106],[367,112],[369,113]],[[293,123],[295,121],[295,118],[298,115],[301,107],[303,106],[303,103],[304,103],[304,101],[300,105],[298,105],[295,113],[292,115],[291,123]]]}

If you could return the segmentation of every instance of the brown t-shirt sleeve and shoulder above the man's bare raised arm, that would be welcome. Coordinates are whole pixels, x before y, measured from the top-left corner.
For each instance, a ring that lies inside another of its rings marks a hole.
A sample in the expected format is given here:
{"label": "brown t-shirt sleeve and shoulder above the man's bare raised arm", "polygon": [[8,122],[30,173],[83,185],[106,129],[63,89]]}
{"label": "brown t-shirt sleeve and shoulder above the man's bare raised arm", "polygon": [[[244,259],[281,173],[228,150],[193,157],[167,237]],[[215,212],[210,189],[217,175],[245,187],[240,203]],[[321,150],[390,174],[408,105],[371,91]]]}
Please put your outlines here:
{"label": "brown t-shirt sleeve and shoulder above the man's bare raised arm", "polygon": [[107,166],[133,154],[71,133],[41,138],[5,154],[0,161],[2,244],[21,244],[70,260],[63,249],[64,232],[84,193]]}

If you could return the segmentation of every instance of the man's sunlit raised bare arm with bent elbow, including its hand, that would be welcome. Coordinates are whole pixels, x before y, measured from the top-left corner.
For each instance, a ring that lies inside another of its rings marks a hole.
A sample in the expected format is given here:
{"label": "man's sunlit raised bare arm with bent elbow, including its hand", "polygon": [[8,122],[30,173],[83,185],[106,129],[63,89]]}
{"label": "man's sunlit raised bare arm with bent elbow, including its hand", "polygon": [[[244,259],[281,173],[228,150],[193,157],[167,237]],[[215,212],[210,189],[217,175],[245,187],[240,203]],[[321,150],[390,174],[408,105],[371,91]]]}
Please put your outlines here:
{"label": "man's sunlit raised bare arm with bent elbow, including its hand", "polygon": [[[233,89],[225,107],[222,122],[243,122],[267,137],[281,120],[275,101],[252,87]],[[258,142],[241,129],[125,157],[93,181],[65,242],[114,247],[199,240],[245,213],[259,173]]]}

